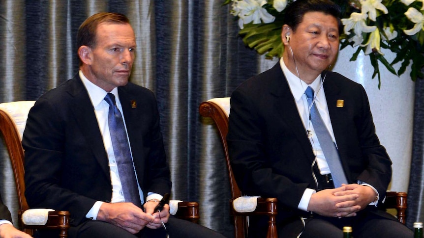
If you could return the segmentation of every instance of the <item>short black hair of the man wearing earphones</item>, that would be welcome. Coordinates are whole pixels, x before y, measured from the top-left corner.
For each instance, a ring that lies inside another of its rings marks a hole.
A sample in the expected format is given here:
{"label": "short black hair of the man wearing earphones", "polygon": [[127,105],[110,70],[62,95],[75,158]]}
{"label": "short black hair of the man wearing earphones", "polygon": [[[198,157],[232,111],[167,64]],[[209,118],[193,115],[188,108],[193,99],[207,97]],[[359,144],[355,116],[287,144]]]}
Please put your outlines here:
{"label": "short black hair of the man wearing earphones", "polygon": [[287,24],[296,31],[296,28],[303,21],[303,16],[308,12],[322,12],[337,19],[339,34],[343,30],[340,21],[340,6],[331,0],[296,0],[291,3],[284,16],[284,24]]}

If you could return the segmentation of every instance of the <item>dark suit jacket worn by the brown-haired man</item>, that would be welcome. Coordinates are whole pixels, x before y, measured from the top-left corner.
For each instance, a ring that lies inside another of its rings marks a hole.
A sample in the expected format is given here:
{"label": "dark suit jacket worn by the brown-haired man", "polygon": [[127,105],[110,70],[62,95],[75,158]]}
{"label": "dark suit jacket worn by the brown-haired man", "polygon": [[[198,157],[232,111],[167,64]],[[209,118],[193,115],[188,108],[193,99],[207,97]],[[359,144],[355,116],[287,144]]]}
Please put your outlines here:
{"label": "dark suit jacket worn by the brown-haired man", "polygon": [[[144,195],[170,192],[153,93],[132,83],[118,91]],[[37,100],[28,116],[23,146],[25,195],[31,208],[69,211],[71,225],[78,225],[96,201],[111,200],[108,157],[91,100],[78,75]]]}

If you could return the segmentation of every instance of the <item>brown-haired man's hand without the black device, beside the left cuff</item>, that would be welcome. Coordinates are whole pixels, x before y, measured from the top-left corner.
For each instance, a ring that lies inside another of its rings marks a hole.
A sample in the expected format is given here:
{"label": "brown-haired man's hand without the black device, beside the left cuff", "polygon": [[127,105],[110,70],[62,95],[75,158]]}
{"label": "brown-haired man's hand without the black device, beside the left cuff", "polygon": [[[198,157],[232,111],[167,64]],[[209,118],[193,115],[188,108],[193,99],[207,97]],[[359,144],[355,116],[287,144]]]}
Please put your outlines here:
{"label": "brown-haired man's hand without the black device, beside the left cuff", "polygon": [[151,214],[132,203],[103,203],[96,219],[114,224],[131,234],[137,234],[154,220]]}

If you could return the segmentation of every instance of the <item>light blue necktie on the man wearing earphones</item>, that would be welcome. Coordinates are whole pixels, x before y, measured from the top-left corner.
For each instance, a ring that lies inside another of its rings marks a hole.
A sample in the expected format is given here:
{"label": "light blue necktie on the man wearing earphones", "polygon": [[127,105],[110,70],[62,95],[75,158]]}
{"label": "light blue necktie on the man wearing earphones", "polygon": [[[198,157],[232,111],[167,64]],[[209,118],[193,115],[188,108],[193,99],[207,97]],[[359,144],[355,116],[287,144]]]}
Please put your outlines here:
{"label": "light blue necktie on the man wearing earphones", "polygon": [[321,149],[330,168],[334,186],[340,187],[341,184],[347,184],[347,180],[343,171],[343,167],[341,166],[338,150],[335,147],[330,132],[328,132],[316,105],[313,103],[313,89],[311,87],[306,88],[305,94],[308,99],[308,105],[310,107],[310,120],[312,121],[315,134],[318,137]]}

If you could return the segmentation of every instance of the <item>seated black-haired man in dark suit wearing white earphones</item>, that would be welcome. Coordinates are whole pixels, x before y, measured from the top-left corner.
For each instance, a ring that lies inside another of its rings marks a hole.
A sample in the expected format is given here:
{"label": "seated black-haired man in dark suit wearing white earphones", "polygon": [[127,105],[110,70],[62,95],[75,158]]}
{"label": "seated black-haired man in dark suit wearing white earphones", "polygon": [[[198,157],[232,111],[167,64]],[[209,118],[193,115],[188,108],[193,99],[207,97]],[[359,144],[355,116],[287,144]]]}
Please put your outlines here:
{"label": "seated black-haired man in dark suit wearing white earphones", "polygon": [[[352,226],[355,238],[411,237],[380,209],[392,162],[375,134],[366,93],[328,71],[339,47],[339,15],[330,0],[297,0],[287,8],[283,57],[231,96],[232,167],[244,193],[278,199],[280,238],[337,238],[343,226]],[[335,156],[321,140],[316,110]],[[334,181],[340,173],[330,160],[341,166],[344,182]],[[264,227],[250,220],[250,235],[262,236]]]}

